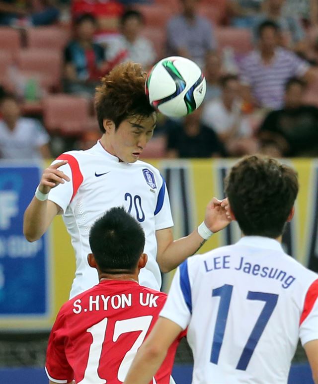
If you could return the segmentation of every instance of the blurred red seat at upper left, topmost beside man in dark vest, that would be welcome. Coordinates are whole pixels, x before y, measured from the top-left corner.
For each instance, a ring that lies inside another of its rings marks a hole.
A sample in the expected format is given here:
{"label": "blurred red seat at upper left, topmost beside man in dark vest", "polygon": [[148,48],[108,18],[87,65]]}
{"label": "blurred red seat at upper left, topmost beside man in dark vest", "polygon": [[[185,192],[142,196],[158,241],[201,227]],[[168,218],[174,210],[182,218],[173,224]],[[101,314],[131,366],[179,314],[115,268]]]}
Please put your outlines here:
{"label": "blurred red seat at upper left, topmost beside man in dark vest", "polygon": [[36,27],[26,30],[29,48],[62,50],[69,42],[70,32],[59,27]]}

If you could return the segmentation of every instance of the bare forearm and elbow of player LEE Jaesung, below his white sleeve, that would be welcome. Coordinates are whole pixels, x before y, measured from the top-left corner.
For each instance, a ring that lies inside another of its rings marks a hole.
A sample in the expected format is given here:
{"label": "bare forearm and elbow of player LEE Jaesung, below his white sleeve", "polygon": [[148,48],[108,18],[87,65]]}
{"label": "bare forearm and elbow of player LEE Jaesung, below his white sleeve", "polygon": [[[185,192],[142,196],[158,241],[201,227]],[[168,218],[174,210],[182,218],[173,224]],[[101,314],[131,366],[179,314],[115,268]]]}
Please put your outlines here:
{"label": "bare forearm and elbow of player LEE Jaesung, below his white sleeve", "polygon": [[147,341],[140,347],[128,371],[124,384],[148,384],[162,364],[166,350]]}

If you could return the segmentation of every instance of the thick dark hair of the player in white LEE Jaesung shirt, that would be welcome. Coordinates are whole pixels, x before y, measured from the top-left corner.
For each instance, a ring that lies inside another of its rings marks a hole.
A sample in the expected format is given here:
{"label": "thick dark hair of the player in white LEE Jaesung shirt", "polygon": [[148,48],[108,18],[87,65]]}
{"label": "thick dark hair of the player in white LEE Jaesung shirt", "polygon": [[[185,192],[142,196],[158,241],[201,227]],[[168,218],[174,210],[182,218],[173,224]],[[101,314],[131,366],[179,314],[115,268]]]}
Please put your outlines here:
{"label": "thick dark hair of the player in white LEE Jaesung shirt", "polygon": [[244,235],[279,237],[298,193],[297,173],[277,160],[243,157],[225,180],[239,227]]}

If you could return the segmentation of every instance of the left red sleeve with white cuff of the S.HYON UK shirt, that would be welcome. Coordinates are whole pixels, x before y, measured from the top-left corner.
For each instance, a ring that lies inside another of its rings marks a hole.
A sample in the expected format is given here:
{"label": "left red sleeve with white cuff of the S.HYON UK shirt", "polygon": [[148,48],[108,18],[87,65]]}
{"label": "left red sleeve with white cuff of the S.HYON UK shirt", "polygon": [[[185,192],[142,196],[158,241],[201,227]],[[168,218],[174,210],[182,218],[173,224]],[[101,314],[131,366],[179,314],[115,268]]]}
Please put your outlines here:
{"label": "left red sleeve with white cuff of the S.HYON UK shirt", "polygon": [[70,383],[74,379],[73,369],[65,355],[64,328],[65,316],[60,312],[51,330],[46,351],[45,372],[54,383]]}

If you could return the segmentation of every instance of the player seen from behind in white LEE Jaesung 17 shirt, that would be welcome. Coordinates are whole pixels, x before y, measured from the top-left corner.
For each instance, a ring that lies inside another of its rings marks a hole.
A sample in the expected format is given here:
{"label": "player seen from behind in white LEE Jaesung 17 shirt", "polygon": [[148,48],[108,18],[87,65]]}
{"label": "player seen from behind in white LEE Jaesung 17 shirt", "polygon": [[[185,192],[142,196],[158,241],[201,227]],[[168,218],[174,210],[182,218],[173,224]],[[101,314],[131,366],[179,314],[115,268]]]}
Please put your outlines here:
{"label": "player seen from behind in white LEE Jaesung 17 shirt", "polygon": [[286,384],[299,337],[318,383],[318,275],[281,246],[297,174],[274,159],[249,156],[232,167],[225,192],[243,237],[178,267],[125,384],[149,383],[185,328],[192,383]]}

